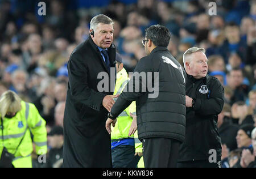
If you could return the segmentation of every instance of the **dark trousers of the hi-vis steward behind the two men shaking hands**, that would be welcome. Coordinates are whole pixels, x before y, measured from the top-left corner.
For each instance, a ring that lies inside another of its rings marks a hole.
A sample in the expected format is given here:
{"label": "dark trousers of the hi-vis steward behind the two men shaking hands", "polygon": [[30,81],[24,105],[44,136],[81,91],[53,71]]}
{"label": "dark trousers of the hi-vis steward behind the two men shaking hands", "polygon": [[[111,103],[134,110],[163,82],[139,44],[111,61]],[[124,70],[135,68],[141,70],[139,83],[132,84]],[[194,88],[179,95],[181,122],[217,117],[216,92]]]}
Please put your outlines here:
{"label": "dark trousers of the hi-vis steward behind the two men shaking hands", "polygon": [[117,146],[111,150],[113,168],[137,168],[139,162],[138,155],[134,156],[134,146]]}

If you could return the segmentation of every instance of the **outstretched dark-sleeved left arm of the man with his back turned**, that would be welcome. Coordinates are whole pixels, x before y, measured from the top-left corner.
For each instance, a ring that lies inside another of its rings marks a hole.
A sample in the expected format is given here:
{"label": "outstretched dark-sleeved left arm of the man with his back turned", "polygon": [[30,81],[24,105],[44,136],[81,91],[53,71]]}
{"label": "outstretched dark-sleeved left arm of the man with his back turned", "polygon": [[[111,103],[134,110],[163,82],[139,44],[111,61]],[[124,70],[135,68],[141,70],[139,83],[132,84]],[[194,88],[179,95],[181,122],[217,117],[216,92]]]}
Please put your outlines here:
{"label": "outstretched dark-sleeved left arm of the man with his back turned", "polygon": [[[111,114],[117,117],[123,110],[125,110],[133,101],[139,99],[143,93],[143,88],[147,85],[147,79],[138,78],[139,74],[144,74],[151,71],[151,63],[148,57],[143,57],[134,69],[134,74],[131,76],[130,81],[126,84],[123,92],[118,97],[115,104],[112,106]],[[139,84],[139,85],[136,85]],[[147,88],[146,88],[147,89]]]}

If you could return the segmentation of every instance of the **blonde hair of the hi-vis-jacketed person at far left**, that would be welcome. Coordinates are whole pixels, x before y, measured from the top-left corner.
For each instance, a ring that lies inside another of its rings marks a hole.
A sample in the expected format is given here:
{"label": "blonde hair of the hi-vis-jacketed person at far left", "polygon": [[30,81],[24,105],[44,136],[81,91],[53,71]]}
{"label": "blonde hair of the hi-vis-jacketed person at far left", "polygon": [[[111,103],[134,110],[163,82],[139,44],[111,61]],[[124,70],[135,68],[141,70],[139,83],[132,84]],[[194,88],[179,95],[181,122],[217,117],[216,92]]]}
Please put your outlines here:
{"label": "blonde hair of the hi-vis-jacketed person at far left", "polygon": [[0,97],[0,116],[5,117],[7,112],[16,113],[22,109],[20,97],[13,91],[6,91]]}

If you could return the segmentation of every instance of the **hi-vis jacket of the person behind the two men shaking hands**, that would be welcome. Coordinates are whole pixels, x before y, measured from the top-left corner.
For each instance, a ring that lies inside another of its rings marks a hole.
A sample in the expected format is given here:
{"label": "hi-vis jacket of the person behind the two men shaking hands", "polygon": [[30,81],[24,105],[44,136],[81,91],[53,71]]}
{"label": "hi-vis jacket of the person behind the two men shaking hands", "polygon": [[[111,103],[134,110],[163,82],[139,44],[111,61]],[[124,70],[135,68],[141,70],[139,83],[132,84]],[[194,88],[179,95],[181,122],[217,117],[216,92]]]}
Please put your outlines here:
{"label": "hi-vis jacket of the person behind the two men shaking hands", "polygon": [[[123,88],[125,88],[126,84],[129,82],[129,77],[126,70],[123,68],[117,74],[117,82],[115,83],[115,91],[114,95],[119,95]],[[116,100],[116,99],[114,99]],[[133,118],[130,116],[131,114],[136,115],[136,103],[130,104],[118,117],[117,122],[115,123],[115,127],[112,126],[111,139],[124,139],[124,138],[134,138],[135,143],[135,152],[142,152],[142,143],[138,139],[138,131],[134,133],[134,135],[128,136],[131,122],[133,122]]]}

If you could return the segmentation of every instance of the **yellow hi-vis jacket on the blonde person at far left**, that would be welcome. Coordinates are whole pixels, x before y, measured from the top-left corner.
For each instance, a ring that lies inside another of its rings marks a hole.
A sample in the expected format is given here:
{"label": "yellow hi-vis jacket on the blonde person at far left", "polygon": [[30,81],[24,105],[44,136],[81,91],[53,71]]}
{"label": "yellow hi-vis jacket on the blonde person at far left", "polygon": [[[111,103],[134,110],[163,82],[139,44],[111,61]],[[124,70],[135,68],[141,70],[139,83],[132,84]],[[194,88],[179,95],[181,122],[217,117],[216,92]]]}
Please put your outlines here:
{"label": "yellow hi-vis jacket on the blonde person at far left", "polygon": [[[8,152],[14,154],[20,140],[23,140],[15,153],[13,165],[15,168],[31,168],[32,133],[35,143],[36,154],[47,153],[47,131],[46,121],[40,116],[34,104],[21,102],[22,109],[13,118],[3,118],[3,140],[2,129],[0,129],[0,157],[3,144]],[[0,121],[1,122],[1,121]],[[2,125],[0,125],[1,127]]]}

